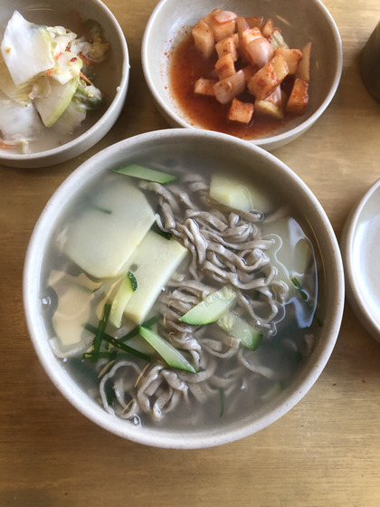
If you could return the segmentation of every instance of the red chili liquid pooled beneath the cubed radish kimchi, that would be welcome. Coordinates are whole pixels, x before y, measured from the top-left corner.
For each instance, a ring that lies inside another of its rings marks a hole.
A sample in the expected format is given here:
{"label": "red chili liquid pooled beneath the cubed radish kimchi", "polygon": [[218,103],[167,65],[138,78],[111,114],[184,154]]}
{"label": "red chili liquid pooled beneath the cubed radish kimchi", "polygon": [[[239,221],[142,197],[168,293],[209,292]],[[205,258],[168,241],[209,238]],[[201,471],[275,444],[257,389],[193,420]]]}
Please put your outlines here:
{"label": "red chili liquid pooled beneath the cubed radish kimchi", "polygon": [[[258,139],[273,135],[275,130],[286,125],[291,117],[278,120],[253,113],[248,124],[227,120],[230,104],[221,104],[214,97],[196,95],[195,81],[199,78],[212,79],[217,56],[204,60],[195,48],[191,31],[185,33],[184,40],[169,53],[169,86],[179,108],[185,113],[189,123],[203,129],[224,132],[241,139]],[[239,69],[236,69],[239,70]],[[290,82],[284,82],[287,89]],[[249,91],[237,97],[242,101],[254,101]]]}

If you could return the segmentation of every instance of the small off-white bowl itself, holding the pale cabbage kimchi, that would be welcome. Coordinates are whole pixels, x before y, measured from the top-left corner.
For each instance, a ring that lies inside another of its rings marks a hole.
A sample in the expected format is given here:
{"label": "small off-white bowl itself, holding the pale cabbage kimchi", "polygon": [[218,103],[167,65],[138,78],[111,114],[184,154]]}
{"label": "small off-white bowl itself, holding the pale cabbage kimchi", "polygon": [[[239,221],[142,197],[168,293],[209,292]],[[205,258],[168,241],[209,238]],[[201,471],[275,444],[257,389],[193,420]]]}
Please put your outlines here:
{"label": "small off-white bowl itself, holding the pale cabbage kimchi", "polygon": [[[101,63],[101,72],[95,83],[103,91],[105,104],[99,110],[91,110],[81,127],[72,138],[65,138],[59,145],[38,148],[30,155],[18,154],[14,150],[0,148],[0,164],[9,167],[45,167],[58,164],[80,155],[102,139],[119,118],[128,91],[129,56],[124,34],[115,16],[100,0],[4,0],[0,7],[0,39],[3,39],[5,26],[19,11],[27,21],[39,24],[63,25],[78,33],[78,18],[94,19],[103,28],[105,39],[110,43],[107,62]],[[77,14],[75,14],[77,13]]]}

